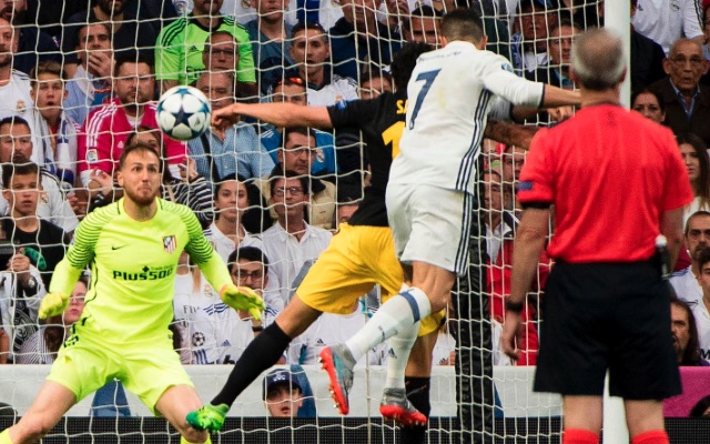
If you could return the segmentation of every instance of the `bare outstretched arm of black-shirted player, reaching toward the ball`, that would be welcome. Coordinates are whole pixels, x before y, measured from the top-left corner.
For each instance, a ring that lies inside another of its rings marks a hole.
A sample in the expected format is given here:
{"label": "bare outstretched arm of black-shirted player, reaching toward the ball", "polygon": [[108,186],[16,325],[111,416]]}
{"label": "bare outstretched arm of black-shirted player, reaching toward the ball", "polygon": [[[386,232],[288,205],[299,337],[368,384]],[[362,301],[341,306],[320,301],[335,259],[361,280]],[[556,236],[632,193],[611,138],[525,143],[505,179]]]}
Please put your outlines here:
{"label": "bare outstretched arm of black-shirted player, reaching toward the ball", "polygon": [[325,107],[301,107],[293,103],[233,103],[212,113],[212,125],[233,125],[240,115],[248,115],[276,127],[332,128]]}

